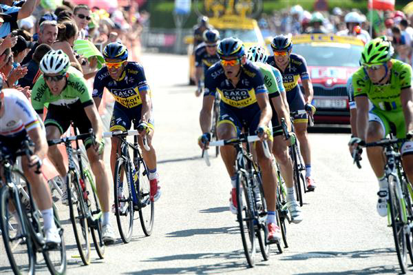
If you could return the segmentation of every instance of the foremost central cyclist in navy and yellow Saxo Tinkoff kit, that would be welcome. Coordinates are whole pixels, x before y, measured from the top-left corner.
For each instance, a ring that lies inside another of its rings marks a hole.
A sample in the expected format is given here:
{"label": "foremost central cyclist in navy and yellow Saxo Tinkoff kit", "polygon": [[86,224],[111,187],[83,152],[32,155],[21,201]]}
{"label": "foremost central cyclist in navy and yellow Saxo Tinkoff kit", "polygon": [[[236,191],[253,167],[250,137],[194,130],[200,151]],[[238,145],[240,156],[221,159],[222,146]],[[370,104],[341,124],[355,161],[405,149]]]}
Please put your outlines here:
{"label": "foremost central cyclist in navy and yellow Saxo Tinkoff kit", "polygon": [[[237,136],[243,128],[249,134],[255,134],[257,130],[263,130],[260,135],[262,141],[271,139],[271,105],[268,99],[268,91],[264,85],[264,79],[260,69],[251,61],[248,61],[244,52],[242,41],[235,37],[223,39],[218,45],[220,62],[209,68],[205,75],[205,92],[200,112],[200,126],[202,136],[198,139],[200,147],[208,145],[202,143],[202,138],[210,140],[211,134],[211,110],[217,93],[221,96],[220,118],[218,121],[218,139],[231,139]],[[271,146],[271,145],[270,145]],[[235,148],[225,145],[220,148],[222,160],[231,178],[230,210],[237,212],[236,205],[236,176],[235,176]],[[277,179],[271,159],[264,155],[262,142],[255,145],[258,163],[262,169],[262,181],[264,194],[268,206],[268,241],[278,241],[281,231],[277,226],[276,196]]]}

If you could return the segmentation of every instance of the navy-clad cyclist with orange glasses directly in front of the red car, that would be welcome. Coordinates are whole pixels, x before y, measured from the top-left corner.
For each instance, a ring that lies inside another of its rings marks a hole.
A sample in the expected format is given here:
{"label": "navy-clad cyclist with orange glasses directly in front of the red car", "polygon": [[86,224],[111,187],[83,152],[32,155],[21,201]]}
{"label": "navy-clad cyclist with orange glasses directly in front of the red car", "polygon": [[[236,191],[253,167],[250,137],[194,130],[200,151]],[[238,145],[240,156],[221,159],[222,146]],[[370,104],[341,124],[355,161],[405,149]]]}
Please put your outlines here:
{"label": "navy-clad cyclist with orange glasses directly in front of the red car", "polygon": [[[298,54],[293,54],[293,41],[286,35],[277,35],[271,43],[274,55],[268,57],[267,63],[277,68],[282,74],[284,88],[286,88],[287,101],[290,111],[311,110],[315,113],[315,107],[311,105],[313,100],[313,84],[308,75],[306,59]],[[304,87],[304,96],[298,85],[298,79]],[[306,183],[308,191],[315,190],[315,181],[311,171],[311,152],[307,134],[307,114],[299,114],[294,117],[294,128],[299,147],[306,163]],[[277,126],[277,125],[274,125]]]}

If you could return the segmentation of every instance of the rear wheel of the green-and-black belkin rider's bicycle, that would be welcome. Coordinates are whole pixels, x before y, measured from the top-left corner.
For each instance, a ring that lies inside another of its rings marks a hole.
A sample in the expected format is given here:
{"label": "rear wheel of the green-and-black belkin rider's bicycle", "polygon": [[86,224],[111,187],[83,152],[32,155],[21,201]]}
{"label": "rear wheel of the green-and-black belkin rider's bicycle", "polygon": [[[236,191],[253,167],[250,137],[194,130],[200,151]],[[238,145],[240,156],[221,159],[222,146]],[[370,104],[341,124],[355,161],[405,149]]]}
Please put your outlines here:
{"label": "rear wheel of the green-and-black belkin rider's bicycle", "polygon": [[96,185],[94,184],[94,179],[90,170],[85,170],[85,186],[87,188],[87,204],[89,205],[89,210],[92,214],[92,219],[94,224],[90,225],[90,233],[92,235],[94,247],[99,258],[105,258],[105,243],[102,240],[102,210],[100,208],[100,203],[98,196],[96,195]]}

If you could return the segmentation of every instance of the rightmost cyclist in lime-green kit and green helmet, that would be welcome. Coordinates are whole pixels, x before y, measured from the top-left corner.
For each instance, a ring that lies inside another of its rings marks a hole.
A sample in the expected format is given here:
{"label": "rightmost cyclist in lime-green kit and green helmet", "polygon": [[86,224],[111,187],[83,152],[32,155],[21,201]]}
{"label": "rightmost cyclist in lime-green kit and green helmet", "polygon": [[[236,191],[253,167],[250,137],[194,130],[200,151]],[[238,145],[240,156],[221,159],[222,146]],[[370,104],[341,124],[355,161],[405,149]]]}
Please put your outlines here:
{"label": "rightmost cyclist in lime-green kit and green helmet", "polygon": [[[354,98],[357,104],[357,137],[350,140],[355,146],[361,140],[379,141],[392,132],[398,138],[413,133],[412,67],[392,59],[394,49],[386,37],[366,44],[361,53],[361,68],[353,74]],[[373,108],[369,112],[370,99]],[[401,146],[403,168],[413,183],[413,142]],[[379,181],[377,212],[387,216],[388,182],[385,179],[383,150],[367,149],[368,160]]]}

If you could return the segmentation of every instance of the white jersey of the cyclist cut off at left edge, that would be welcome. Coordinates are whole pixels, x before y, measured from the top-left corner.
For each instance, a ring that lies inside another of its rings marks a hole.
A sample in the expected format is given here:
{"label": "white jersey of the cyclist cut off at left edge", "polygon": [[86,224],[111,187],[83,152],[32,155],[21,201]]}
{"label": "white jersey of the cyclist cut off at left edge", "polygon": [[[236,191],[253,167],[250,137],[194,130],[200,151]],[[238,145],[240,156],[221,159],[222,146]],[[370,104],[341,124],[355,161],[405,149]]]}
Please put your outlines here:
{"label": "white jersey of the cyclist cut off at left edge", "polygon": [[14,137],[41,127],[39,118],[23,93],[3,89],[3,116],[0,117],[0,136]]}

